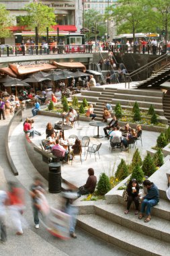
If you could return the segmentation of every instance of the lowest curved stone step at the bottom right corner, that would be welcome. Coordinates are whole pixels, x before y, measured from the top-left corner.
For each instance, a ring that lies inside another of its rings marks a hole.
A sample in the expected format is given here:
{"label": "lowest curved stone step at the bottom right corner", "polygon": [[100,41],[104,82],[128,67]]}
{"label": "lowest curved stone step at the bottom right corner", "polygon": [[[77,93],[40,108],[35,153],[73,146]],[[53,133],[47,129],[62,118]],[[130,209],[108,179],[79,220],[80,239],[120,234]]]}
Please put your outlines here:
{"label": "lowest curved stone step at the bottom right corner", "polygon": [[161,242],[146,234],[140,234],[120,224],[106,220],[95,214],[77,216],[77,224],[108,243],[126,248],[136,255],[169,255],[169,243]]}

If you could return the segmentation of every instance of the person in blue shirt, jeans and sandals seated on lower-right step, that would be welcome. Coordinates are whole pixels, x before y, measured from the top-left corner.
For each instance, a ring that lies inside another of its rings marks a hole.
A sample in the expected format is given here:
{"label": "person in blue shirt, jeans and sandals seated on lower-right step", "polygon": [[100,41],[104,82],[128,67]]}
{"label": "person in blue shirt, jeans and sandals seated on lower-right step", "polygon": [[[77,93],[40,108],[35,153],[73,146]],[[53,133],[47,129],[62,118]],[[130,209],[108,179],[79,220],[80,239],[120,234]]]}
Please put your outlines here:
{"label": "person in blue shirt, jeans and sandals seated on lower-right step", "polygon": [[144,217],[144,212],[146,210],[146,218],[144,222],[149,222],[151,220],[151,207],[157,205],[159,202],[159,190],[154,183],[151,183],[151,181],[148,180],[145,180],[143,185],[146,187],[148,193],[141,199],[142,205],[138,218],[141,220]]}

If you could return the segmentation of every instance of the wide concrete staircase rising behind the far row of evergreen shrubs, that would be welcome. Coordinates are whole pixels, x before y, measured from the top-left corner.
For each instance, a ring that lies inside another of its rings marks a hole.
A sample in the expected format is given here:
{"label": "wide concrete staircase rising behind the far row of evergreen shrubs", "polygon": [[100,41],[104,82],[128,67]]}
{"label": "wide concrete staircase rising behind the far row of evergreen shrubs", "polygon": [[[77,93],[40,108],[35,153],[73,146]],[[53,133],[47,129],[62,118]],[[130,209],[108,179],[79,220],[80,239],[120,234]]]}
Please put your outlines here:
{"label": "wide concrete staircase rising behind the far row of evergreen shrubs", "polygon": [[148,110],[153,104],[155,112],[165,119],[163,111],[163,92],[161,90],[130,90],[116,89],[112,86],[99,86],[91,88],[91,91],[82,91],[81,94],[76,94],[81,102],[86,98],[87,102],[92,103],[94,113],[97,115],[97,121],[101,121],[103,113],[103,102],[107,101],[112,105],[112,108],[120,102],[122,108],[132,109],[134,102],[138,102],[140,110]]}

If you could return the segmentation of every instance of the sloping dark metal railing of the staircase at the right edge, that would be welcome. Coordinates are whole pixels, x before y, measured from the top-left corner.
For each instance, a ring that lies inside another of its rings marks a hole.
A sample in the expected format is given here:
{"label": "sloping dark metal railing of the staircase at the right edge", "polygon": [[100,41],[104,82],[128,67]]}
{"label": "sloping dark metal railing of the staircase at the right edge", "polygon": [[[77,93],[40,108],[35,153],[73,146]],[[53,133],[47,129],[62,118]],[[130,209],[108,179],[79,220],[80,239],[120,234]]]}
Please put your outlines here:
{"label": "sloping dark metal railing of the staircase at the right edge", "polygon": [[[130,80],[132,81],[132,77],[134,75],[138,76],[137,81],[140,81],[140,73],[146,71],[146,77],[151,76],[151,73],[153,73],[153,67],[157,65],[157,72],[167,67],[167,65],[170,65],[170,55],[166,53],[165,55],[161,55],[154,61],[151,61],[150,63],[147,63],[146,65],[140,67],[139,69],[136,69],[135,71],[131,73],[125,74],[125,88],[128,82],[128,88],[130,88]],[[162,65],[163,61],[165,61],[165,64]],[[159,68],[158,68],[159,67]]]}

